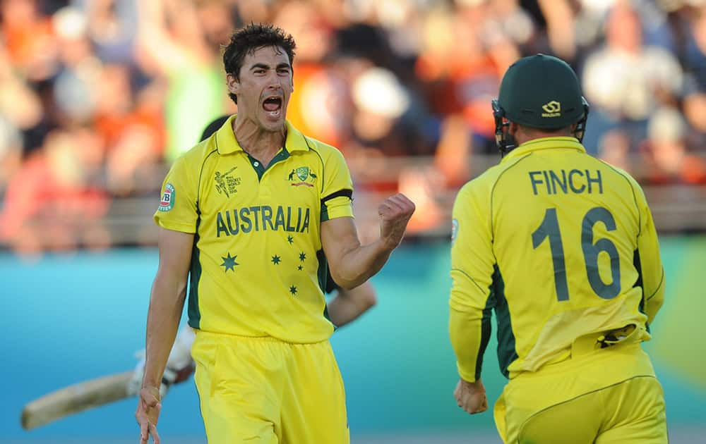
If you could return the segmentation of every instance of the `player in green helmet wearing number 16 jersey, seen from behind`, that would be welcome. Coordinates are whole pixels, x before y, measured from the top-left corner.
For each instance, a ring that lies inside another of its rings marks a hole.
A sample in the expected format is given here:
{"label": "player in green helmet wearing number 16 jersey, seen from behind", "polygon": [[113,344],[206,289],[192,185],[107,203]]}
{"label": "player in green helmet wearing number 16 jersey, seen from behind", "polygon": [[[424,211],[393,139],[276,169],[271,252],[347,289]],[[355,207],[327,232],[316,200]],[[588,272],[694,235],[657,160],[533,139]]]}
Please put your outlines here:
{"label": "player in green helmet wearing number 16 jersey, seen from behind", "polygon": [[487,408],[494,311],[505,443],[667,442],[641,347],[664,300],[657,234],[638,183],[582,146],[588,111],[564,61],[514,63],[493,101],[503,158],[453,207],[454,395],[471,414]]}

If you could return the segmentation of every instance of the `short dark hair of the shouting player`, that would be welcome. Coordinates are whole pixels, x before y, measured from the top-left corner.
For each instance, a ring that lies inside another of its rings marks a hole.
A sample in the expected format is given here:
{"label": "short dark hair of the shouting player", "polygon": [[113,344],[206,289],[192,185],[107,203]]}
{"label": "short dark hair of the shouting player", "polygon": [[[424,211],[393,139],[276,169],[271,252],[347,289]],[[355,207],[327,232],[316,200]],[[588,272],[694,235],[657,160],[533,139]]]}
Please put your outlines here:
{"label": "short dark hair of the shouting player", "polygon": [[[280,47],[285,50],[289,58],[289,65],[294,63],[294,37],[287,34],[282,28],[271,23],[251,23],[237,30],[230,37],[230,42],[223,51],[223,67],[226,74],[233,75],[237,80],[240,78],[240,68],[246,54],[253,54],[257,49],[264,47]],[[238,98],[235,94],[228,96],[236,104]]]}

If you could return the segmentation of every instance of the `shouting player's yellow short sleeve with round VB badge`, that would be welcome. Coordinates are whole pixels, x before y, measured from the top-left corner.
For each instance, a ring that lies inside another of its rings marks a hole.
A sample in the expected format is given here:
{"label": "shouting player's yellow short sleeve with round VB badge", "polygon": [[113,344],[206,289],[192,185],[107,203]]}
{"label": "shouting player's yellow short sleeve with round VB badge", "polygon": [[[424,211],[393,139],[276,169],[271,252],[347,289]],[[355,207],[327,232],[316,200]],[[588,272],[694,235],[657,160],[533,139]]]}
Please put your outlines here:
{"label": "shouting player's yellow short sleeve with round VB badge", "polygon": [[180,157],[164,178],[155,223],[167,230],[196,233],[196,186],[186,159]]}

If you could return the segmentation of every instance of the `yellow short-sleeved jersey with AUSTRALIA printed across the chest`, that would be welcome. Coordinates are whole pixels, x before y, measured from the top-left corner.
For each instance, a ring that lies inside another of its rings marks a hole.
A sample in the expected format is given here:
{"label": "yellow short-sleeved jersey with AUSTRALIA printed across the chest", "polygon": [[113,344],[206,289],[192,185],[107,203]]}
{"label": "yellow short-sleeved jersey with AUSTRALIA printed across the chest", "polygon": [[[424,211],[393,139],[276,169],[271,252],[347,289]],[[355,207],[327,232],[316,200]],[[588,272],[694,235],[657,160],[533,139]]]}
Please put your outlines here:
{"label": "yellow short-sleeved jersey with AUSTRALIA printed across the chest", "polygon": [[189,325],[203,331],[327,339],[321,222],[352,217],[342,154],[287,122],[285,147],[265,168],[238,144],[231,116],[172,166],[159,226],[195,233]]}

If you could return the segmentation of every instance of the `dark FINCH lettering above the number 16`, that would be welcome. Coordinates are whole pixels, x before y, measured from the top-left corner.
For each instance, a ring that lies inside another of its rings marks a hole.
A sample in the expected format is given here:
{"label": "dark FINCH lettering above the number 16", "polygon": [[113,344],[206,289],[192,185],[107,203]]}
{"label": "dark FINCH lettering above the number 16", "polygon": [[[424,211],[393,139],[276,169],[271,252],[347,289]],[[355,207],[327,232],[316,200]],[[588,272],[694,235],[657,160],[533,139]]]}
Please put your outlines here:
{"label": "dark FINCH lettering above the number 16", "polygon": [[542,170],[529,171],[530,183],[534,195],[539,192],[546,192],[548,195],[556,195],[558,192],[568,194],[573,192],[577,195],[587,192],[598,192],[603,194],[603,179],[601,172],[588,170]]}

